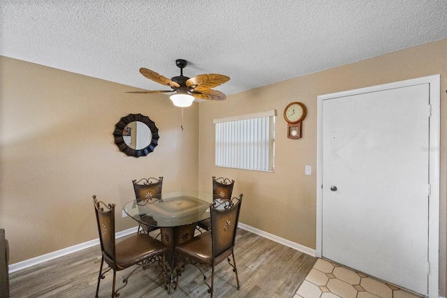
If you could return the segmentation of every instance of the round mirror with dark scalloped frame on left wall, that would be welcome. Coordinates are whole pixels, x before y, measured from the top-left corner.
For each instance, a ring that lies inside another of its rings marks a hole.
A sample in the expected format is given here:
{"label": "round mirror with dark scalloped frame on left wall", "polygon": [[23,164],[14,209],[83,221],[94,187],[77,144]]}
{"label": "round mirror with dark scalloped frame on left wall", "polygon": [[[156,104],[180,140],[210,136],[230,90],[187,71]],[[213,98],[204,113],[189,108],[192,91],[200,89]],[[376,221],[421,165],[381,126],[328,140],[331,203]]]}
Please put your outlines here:
{"label": "round mirror with dark scalloped frame on left wall", "polygon": [[115,125],[113,135],[119,150],[128,156],[147,156],[158,144],[159,128],[147,116],[129,114]]}

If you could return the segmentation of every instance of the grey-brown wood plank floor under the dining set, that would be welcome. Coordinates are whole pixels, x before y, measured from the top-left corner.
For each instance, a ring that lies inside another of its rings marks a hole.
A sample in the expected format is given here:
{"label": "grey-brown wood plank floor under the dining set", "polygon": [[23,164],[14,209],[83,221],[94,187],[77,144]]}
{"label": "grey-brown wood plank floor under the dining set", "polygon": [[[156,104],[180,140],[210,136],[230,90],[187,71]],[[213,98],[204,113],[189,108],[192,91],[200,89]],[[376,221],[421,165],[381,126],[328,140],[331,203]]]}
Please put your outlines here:
{"label": "grey-brown wood plank floor under the dining set", "polygon": [[[214,275],[214,297],[293,297],[316,258],[238,229],[235,247],[240,290],[226,261]],[[10,274],[10,297],[94,297],[101,262],[99,246]],[[134,267],[117,272],[117,287]],[[207,271],[209,276],[211,271]],[[200,271],[187,265],[170,294],[154,270],[138,268],[119,297],[209,297]],[[112,294],[112,272],[101,281],[99,297]]]}

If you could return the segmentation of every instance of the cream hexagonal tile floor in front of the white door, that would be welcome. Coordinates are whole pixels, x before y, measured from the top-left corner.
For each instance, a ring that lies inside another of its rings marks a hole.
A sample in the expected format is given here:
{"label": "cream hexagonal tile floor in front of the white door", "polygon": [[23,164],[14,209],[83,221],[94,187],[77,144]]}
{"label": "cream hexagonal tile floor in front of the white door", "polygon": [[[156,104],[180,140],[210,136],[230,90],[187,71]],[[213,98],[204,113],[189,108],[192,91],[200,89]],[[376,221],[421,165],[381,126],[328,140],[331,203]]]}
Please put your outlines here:
{"label": "cream hexagonal tile floor in front of the white door", "polygon": [[395,285],[318,259],[294,298],[418,298]]}

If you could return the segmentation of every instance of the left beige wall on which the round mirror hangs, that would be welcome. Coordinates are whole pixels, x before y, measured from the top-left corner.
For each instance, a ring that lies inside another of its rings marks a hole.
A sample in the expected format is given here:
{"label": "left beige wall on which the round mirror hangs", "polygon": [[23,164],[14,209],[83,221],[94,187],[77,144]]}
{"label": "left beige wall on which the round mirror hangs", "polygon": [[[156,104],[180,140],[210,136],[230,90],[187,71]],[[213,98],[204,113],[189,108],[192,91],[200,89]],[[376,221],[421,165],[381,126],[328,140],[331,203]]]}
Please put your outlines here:
{"label": "left beige wall on which the round mirror hangs", "polygon": [[[138,73],[138,70],[135,70]],[[184,110],[166,95],[0,57],[0,227],[10,264],[98,238],[91,195],[114,202],[117,231],[135,198],[132,179],[163,176],[163,190],[198,185],[198,103]],[[159,145],[134,158],[114,143],[115,124],[144,114]]]}

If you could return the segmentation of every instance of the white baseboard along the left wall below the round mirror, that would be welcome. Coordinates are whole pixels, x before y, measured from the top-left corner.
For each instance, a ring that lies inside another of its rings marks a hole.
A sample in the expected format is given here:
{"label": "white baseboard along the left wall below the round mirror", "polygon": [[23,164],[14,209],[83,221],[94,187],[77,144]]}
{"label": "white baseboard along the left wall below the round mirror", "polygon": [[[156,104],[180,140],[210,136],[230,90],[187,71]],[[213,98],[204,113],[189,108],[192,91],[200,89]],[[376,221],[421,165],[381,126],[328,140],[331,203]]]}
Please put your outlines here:
{"label": "white baseboard along the left wall below the round mirror", "polygon": [[[137,230],[138,230],[138,227],[134,227],[134,228],[130,228],[130,229],[127,229],[127,230],[124,230],[121,232],[117,232],[116,237],[120,238],[120,237],[127,236],[129,234],[133,234],[133,233],[136,233]],[[43,262],[47,262],[49,260],[53,260],[55,258],[62,257],[64,255],[69,255],[70,253],[82,251],[82,249],[89,248],[91,246],[95,246],[98,244],[99,244],[99,238],[96,238],[96,239],[93,239],[93,240],[90,240],[90,241],[87,241],[87,242],[84,242],[81,244],[63,248],[59,251],[53,251],[52,253],[47,253],[45,255],[39,255],[36,258],[31,258],[28,260],[24,260],[22,262],[17,262],[15,264],[9,265],[9,273],[13,273],[15,271],[19,271],[19,270],[22,270],[22,269],[25,269],[25,268],[28,268],[28,267],[31,267],[34,265],[38,265]]]}

